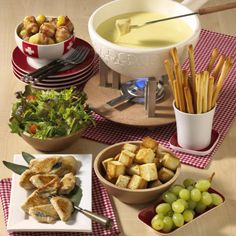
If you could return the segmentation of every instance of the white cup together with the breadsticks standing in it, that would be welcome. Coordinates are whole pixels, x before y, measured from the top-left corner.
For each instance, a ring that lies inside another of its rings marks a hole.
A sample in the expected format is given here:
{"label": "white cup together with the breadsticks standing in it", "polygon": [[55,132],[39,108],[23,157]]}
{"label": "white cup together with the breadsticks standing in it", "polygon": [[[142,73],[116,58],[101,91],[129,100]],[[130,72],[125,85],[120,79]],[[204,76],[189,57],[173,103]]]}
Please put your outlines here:
{"label": "white cup together with the breadsticks standing in it", "polygon": [[231,57],[220,55],[215,48],[205,70],[195,70],[194,50],[188,45],[191,75],[182,70],[177,49],[170,50],[170,60],[165,60],[165,68],[173,92],[177,140],[184,149],[201,150],[211,142],[212,125],[216,102],[233,61]]}

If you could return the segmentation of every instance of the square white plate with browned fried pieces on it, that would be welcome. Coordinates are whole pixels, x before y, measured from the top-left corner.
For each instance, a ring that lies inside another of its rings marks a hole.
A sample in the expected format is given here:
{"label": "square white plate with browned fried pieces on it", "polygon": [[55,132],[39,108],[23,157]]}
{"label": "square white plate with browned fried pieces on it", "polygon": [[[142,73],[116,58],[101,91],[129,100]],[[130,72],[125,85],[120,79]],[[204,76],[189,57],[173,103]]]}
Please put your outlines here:
{"label": "square white plate with browned fried pieces on it", "polygon": [[[91,154],[34,154],[29,169],[13,173],[9,232],[92,232],[91,220],[74,211],[68,194],[82,189],[80,207],[92,210]],[[21,154],[14,163],[28,166]]]}

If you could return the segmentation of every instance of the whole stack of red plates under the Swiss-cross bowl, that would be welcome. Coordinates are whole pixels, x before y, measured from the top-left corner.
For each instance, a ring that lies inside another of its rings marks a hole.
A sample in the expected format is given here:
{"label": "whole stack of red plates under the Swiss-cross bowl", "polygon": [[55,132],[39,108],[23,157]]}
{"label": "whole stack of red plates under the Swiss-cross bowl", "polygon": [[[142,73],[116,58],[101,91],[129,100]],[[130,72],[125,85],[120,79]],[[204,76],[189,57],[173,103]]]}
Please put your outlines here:
{"label": "whole stack of red plates under the Swiss-cross bowl", "polygon": [[[83,63],[73,67],[72,69],[60,71],[55,75],[48,76],[37,84],[32,83],[32,87],[39,89],[63,89],[71,86],[83,87],[97,72],[98,57],[89,43],[76,38],[73,48],[78,46],[90,49],[90,53]],[[18,47],[16,47],[12,53],[12,66],[16,78],[25,84],[27,83],[24,81],[23,76],[36,70],[29,65],[26,55],[23,54]]]}

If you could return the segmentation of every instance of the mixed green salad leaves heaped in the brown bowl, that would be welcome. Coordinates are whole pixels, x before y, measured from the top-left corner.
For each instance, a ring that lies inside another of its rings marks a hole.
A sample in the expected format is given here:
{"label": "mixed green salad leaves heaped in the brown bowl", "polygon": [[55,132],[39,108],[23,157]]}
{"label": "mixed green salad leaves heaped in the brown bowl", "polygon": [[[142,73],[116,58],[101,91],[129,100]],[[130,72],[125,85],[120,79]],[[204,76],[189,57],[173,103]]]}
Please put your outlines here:
{"label": "mixed green salad leaves heaped in the brown bowl", "polygon": [[16,98],[9,119],[12,133],[45,139],[73,134],[89,123],[95,125],[86,94],[75,87],[44,91],[26,85]]}

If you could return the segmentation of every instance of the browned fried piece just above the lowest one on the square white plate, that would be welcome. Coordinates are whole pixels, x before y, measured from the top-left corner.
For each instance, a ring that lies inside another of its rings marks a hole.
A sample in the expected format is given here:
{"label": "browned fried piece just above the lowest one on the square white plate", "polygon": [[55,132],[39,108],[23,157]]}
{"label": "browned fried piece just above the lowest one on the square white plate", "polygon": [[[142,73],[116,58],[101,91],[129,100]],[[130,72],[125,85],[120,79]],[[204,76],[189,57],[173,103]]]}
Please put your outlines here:
{"label": "browned fried piece just above the lowest one on the square white plate", "polygon": [[26,201],[21,206],[22,210],[26,213],[29,213],[29,209],[34,206],[48,204],[48,198],[42,197],[38,194],[37,190],[30,194],[30,196],[26,199]]}

